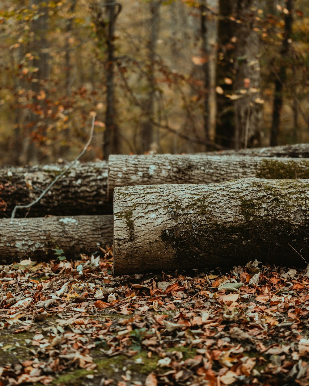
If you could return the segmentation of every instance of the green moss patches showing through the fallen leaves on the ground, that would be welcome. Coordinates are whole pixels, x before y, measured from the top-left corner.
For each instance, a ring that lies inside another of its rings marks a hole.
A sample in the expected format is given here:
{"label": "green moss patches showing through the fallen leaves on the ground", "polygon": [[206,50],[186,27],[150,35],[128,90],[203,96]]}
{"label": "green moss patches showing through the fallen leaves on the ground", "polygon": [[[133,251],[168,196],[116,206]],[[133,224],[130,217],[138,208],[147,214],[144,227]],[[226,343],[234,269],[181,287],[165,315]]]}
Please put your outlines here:
{"label": "green moss patches showing through the fallen leaves on the ground", "polygon": [[[130,315],[120,314],[104,314],[89,316],[93,319],[103,318],[127,318]],[[33,353],[29,347],[29,340],[35,334],[41,333],[42,327],[56,325],[56,316],[48,317],[44,322],[33,325],[29,330],[15,334],[15,326],[8,327],[0,331],[0,342],[3,347],[0,347],[0,363],[14,364],[24,362],[29,359]],[[102,346],[101,346],[102,347]],[[183,354],[183,359],[193,358],[196,354],[196,349],[189,346],[175,346],[166,350],[167,353],[179,351]],[[127,371],[131,372],[132,380],[144,383],[146,376],[156,371],[162,373],[166,371],[164,367],[158,367],[157,363],[160,359],[155,353],[151,353],[148,357],[149,350],[141,349],[134,356],[128,357],[124,354],[119,354],[112,357],[107,357],[100,350],[100,345],[90,350],[90,355],[93,357],[93,362],[97,367],[93,370],[87,369],[71,369],[55,376],[53,380],[54,386],[82,386],[85,383],[93,386],[99,386],[102,378],[112,378],[117,383],[123,381],[121,376],[124,376]],[[40,383],[35,386],[41,386]]]}

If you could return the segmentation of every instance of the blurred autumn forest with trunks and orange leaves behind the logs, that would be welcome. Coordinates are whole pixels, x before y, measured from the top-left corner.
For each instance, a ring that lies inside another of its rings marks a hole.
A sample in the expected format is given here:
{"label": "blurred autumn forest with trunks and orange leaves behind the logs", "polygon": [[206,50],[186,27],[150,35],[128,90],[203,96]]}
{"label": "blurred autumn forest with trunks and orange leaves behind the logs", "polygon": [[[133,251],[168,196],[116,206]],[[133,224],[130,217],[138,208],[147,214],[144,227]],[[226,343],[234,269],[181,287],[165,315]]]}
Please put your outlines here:
{"label": "blurred autumn forest with trunks and orange leaves behind the logs", "polygon": [[309,141],[307,0],[2,0],[0,164]]}

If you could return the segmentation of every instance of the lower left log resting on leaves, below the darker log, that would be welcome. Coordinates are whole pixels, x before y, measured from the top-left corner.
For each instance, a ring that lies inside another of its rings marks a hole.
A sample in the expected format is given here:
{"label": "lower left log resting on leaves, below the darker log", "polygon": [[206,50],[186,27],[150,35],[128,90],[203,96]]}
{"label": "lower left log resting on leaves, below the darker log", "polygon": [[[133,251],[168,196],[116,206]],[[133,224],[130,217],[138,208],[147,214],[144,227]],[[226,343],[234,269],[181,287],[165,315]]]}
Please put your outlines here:
{"label": "lower left log resting on leaves, below the darker log", "polygon": [[0,264],[23,257],[46,260],[55,257],[55,248],[63,249],[69,260],[112,243],[111,215],[0,220]]}

